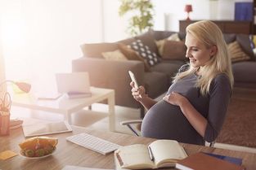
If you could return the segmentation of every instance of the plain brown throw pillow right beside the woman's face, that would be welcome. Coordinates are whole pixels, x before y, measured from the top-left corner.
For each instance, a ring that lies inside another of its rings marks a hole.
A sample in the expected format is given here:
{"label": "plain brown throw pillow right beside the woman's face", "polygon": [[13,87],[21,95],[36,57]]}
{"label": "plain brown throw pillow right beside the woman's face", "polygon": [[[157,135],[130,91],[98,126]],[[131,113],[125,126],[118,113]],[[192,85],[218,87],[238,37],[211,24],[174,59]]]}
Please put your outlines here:
{"label": "plain brown throw pillow right beside the woman's face", "polygon": [[164,42],[164,50],[162,59],[186,59],[186,46],[183,41]]}

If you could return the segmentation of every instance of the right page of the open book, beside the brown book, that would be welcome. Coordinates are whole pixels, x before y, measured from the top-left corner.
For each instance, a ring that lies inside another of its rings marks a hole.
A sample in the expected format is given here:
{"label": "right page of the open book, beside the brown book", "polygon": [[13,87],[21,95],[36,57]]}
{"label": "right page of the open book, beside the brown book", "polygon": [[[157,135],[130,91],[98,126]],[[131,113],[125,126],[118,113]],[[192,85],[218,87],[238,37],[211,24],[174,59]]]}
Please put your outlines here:
{"label": "right page of the open book, beside the brown book", "polygon": [[186,152],[177,141],[157,140],[150,143],[157,167],[174,166],[177,159],[186,158]]}

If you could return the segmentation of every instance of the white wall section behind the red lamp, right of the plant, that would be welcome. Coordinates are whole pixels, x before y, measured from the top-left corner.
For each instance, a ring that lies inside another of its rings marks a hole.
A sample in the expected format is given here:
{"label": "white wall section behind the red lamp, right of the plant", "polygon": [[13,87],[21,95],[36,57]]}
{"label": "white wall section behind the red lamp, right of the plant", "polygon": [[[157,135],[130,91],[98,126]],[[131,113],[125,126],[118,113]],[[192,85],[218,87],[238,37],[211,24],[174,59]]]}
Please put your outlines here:
{"label": "white wall section behind the red lamp, right of the plant", "polygon": [[235,2],[253,0],[152,0],[155,6],[156,30],[179,30],[179,20],[186,19],[184,7],[191,4],[191,20],[234,20]]}

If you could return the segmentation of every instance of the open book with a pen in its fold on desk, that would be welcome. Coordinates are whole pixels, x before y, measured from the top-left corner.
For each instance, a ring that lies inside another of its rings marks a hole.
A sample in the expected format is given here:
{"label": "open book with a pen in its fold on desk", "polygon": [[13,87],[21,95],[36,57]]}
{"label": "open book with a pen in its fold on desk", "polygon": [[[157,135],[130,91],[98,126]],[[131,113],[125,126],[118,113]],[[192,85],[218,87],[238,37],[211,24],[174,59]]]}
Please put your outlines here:
{"label": "open book with a pen in its fold on desk", "polygon": [[135,144],[115,150],[116,169],[145,169],[175,167],[177,160],[186,158],[186,152],[177,141],[157,140],[149,146]]}

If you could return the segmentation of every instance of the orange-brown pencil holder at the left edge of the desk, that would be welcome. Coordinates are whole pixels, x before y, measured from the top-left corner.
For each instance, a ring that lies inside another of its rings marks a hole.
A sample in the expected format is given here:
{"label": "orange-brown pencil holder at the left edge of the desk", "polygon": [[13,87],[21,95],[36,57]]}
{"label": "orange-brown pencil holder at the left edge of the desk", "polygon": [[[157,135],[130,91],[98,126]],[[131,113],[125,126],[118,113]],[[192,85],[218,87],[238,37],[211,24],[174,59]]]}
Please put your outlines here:
{"label": "orange-brown pencil holder at the left edge of the desk", "polygon": [[0,136],[6,136],[10,133],[10,111],[0,110]]}

